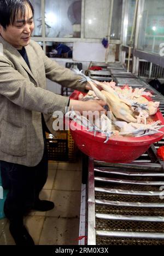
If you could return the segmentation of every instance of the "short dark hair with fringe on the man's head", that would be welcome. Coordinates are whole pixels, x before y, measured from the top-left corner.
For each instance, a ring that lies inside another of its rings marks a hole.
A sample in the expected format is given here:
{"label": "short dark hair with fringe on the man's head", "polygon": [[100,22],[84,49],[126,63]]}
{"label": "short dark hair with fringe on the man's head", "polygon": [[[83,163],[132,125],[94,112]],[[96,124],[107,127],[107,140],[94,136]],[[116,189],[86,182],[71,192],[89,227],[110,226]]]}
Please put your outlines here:
{"label": "short dark hair with fringe on the man's head", "polygon": [[25,21],[25,4],[28,4],[34,14],[34,9],[29,0],[0,0],[0,24],[4,29],[14,25],[18,12],[21,13],[22,20]]}

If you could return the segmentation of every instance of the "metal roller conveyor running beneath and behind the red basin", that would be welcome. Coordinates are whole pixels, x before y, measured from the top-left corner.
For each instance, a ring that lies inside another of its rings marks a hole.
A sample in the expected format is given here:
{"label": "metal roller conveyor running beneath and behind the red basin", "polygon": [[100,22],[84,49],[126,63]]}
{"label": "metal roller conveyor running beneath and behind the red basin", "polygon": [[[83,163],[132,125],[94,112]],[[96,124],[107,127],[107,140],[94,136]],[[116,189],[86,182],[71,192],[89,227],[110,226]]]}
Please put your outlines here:
{"label": "metal roller conveyor running beneath and behind the red basin", "polygon": [[[161,93],[137,77],[128,77],[133,74],[119,77],[125,72],[122,64],[109,63],[103,68],[118,85],[144,87],[145,91],[153,92],[153,101],[160,101],[159,109],[164,115]],[[157,157],[161,146],[164,138],[131,163],[89,158],[89,177],[83,190],[85,225],[83,221],[81,224],[88,245],[164,245],[164,162]]]}

